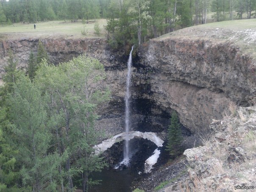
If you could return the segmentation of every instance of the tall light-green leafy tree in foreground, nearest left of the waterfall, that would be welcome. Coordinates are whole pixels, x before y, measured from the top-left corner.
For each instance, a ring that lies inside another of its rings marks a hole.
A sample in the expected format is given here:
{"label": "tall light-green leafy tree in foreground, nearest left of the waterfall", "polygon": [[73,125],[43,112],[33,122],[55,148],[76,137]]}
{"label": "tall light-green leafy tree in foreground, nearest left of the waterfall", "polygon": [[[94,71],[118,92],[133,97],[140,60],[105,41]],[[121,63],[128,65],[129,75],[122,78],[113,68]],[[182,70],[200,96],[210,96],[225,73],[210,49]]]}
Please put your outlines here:
{"label": "tall light-green leafy tree in foreground, nearest left of the waterfall", "polygon": [[88,188],[89,173],[103,167],[101,158],[92,156],[98,133],[94,129],[96,109],[109,98],[109,91],[99,90],[105,78],[99,61],[79,56],[57,67],[44,61],[35,83],[50,96],[49,115],[54,122],[58,153],[68,151],[65,163],[67,188],[72,190],[73,177],[81,173],[83,191]]}

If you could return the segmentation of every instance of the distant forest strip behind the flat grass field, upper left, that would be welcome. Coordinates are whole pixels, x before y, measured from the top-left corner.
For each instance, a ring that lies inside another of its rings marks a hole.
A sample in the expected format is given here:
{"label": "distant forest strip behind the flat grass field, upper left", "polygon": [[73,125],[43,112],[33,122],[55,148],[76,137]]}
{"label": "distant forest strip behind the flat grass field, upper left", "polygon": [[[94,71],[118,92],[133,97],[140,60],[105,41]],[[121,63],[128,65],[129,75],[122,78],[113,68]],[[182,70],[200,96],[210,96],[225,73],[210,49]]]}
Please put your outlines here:
{"label": "distant forest strip behind the flat grass field, upper left", "polygon": [[100,18],[99,0],[1,0],[0,22]]}

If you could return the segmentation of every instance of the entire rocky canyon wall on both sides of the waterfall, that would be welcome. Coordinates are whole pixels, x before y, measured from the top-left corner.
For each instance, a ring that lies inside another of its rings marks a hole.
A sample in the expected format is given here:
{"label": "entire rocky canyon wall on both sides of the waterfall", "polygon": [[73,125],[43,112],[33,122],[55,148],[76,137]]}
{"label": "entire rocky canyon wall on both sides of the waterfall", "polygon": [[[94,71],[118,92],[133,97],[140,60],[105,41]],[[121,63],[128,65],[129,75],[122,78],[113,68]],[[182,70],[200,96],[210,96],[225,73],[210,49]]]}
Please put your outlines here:
{"label": "entire rocky canyon wall on both sides of the waterfall", "polygon": [[[0,42],[0,78],[9,49],[14,52],[18,68],[25,70],[30,52],[36,54],[38,41]],[[105,39],[41,41],[51,63],[85,53],[104,64],[107,72],[104,84],[110,87],[112,98],[108,106],[100,109],[98,128],[116,130],[112,135],[122,132],[128,59],[125,51],[112,52]],[[255,97],[255,62],[228,43],[157,38],[139,47],[133,66],[133,127],[139,131],[162,131],[174,109],[190,131],[206,134],[211,120],[220,119],[231,102],[246,105]]]}

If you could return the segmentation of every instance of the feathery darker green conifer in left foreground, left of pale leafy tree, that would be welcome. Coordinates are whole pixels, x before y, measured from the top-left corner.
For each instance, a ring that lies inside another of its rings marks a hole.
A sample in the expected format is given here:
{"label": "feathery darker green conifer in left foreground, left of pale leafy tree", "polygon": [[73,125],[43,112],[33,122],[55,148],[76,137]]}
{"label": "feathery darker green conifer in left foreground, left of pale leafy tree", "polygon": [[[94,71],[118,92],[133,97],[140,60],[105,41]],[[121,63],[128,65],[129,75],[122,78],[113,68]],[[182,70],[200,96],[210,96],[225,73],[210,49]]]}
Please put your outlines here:
{"label": "feathery darker green conifer in left foreground, left of pale leafy tree", "polygon": [[58,165],[67,157],[67,154],[49,153],[53,138],[47,124],[49,99],[49,95],[42,94],[25,75],[15,83],[14,91],[7,99],[13,146],[19,150],[17,159],[21,165],[22,186],[31,187],[33,191],[56,191]]}

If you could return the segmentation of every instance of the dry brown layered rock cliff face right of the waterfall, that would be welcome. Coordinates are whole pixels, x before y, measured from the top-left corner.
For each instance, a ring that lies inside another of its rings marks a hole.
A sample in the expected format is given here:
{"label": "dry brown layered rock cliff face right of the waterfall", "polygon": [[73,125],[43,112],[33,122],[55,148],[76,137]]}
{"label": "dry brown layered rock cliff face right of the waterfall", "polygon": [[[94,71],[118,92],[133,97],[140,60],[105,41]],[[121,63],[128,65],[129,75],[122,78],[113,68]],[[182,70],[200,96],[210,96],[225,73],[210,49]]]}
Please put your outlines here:
{"label": "dry brown layered rock cliff face right of the waterfall", "polygon": [[231,43],[169,35],[150,40],[139,59],[151,69],[147,81],[156,103],[178,111],[194,132],[208,132],[230,103],[247,105],[255,97],[255,61]]}

